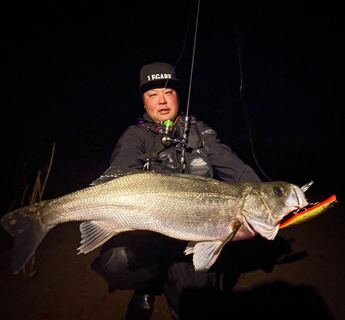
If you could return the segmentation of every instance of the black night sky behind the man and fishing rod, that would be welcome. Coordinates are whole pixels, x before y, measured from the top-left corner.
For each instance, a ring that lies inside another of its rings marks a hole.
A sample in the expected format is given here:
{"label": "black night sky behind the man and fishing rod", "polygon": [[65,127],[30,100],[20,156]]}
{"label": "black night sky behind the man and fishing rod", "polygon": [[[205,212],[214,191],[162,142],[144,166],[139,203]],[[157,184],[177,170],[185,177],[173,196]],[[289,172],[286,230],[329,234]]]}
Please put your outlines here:
{"label": "black night sky behind the man and fishing rod", "polygon": [[[197,14],[195,0],[7,2],[1,4],[3,213],[47,167],[53,142],[45,198],[87,187],[106,170],[119,135],[144,113],[144,64],[177,64],[186,108]],[[314,180],[319,200],[342,198],[344,189],[338,3],[201,0],[190,95],[190,113],[262,180],[248,124],[266,175],[298,185]]]}

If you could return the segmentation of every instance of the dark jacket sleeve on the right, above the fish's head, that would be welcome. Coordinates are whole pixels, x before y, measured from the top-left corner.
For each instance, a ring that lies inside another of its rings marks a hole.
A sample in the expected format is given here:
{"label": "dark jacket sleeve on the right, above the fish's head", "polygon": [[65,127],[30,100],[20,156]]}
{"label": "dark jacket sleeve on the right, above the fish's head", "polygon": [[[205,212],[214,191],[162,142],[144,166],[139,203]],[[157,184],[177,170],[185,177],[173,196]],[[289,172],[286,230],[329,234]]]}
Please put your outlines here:
{"label": "dark jacket sleeve on the right, above the fish's head", "polygon": [[204,140],[213,171],[226,182],[261,182],[255,171],[245,164],[226,144],[222,144],[217,133],[204,122],[199,122],[199,129]]}

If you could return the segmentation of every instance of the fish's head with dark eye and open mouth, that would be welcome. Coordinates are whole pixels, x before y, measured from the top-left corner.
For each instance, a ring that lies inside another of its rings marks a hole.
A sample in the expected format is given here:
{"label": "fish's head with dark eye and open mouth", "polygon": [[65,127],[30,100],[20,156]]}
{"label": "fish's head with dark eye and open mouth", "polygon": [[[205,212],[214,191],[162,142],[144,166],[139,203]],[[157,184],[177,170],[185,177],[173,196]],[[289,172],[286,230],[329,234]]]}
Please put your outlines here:
{"label": "fish's head with dark eye and open mouth", "polygon": [[253,229],[268,239],[275,238],[284,216],[308,205],[302,189],[288,182],[251,184],[245,192],[242,213]]}

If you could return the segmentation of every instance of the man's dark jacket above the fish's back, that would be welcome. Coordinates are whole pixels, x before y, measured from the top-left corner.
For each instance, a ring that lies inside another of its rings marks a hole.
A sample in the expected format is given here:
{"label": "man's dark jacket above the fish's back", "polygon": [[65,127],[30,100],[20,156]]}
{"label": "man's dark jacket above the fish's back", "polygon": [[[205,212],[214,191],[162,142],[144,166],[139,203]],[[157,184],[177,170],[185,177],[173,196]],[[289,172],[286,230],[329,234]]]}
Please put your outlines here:
{"label": "man's dark jacket above the fish's back", "polygon": [[[177,135],[181,136],[184,118],[177,120]],[[130,126],[119,138],[110,161],[111,166],[124,166],[135,169],[143,169],[146,158],[152,158],[157,153],[157,160],[162,162],[172,171],[181,172],[179,159],[181,150],[179,144],[164,146],[157,133],[159,124],[153,122],[147,113],[141,123]],[[195,117],[190,117],[190,133],[188,136],[188,149],[186,158],[193,162],[195,155],[208,162],[212,167],[203,176],[213,176],[226,182],[260,182],[259,177],[245,164],[226,144],[222,144],[217,138],[217,133],[204,122],[197,122]],[[198,161],[196,161],[198,162]],[[201,161],[202,162],[202,161]],[[193,169],[186,173],[196,173]],[[200,174],[201,175],[201,174]]]}

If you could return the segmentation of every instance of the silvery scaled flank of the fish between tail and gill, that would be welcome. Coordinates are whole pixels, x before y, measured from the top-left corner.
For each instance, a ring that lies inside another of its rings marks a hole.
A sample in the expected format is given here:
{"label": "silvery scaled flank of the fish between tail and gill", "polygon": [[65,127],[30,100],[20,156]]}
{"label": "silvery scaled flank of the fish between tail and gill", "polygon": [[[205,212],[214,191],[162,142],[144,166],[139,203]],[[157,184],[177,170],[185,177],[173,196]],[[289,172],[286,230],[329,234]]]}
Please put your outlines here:
{"label": "silvery scaled flank of the fish between tail and gill", "polygon": [[234,214],[219,213],[236,210],[242,189],[190,177],[159,175],[157,179],[157,173],[125,176],[53,200],[42,223],[103,220],[114,231],[127,227],[183,240],[224,240],[228,230],[222,226],[227,226]]}

